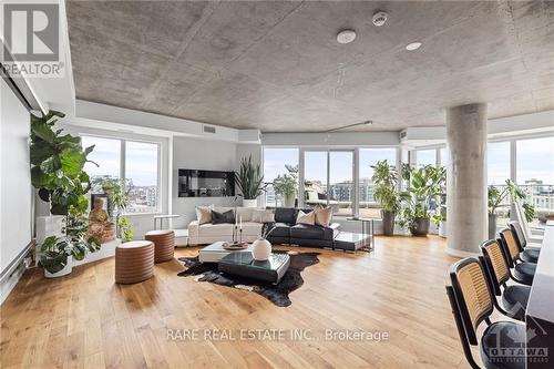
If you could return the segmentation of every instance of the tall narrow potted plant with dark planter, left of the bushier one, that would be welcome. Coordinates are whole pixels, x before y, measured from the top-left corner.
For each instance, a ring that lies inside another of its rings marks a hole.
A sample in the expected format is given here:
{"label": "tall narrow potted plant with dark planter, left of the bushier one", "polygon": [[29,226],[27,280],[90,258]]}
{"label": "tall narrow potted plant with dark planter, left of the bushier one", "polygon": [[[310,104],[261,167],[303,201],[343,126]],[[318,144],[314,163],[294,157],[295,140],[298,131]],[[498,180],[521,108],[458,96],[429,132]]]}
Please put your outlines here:
{"label": "tall narrow potted plant with dark planter, left of the bushier one", "polygon": [[394,234],[394,216],[400,211],[397,168],[387,161],[379,161],[376,165],[371,165],[371,168],[373,168],[371,181],[376,185],[373,198],[381,206],[383,234],[391,236]]}

